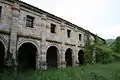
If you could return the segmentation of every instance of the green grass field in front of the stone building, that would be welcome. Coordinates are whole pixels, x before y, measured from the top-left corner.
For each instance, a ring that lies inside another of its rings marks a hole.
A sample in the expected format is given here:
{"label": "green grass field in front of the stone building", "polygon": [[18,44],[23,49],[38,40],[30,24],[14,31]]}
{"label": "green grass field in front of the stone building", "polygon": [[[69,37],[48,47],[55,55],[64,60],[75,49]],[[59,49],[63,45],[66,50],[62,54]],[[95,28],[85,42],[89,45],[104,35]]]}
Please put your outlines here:
{"label": "green grass field in front of the stone building", "polygon": [[120,63],[3,73],[0,80],[120,80]]}

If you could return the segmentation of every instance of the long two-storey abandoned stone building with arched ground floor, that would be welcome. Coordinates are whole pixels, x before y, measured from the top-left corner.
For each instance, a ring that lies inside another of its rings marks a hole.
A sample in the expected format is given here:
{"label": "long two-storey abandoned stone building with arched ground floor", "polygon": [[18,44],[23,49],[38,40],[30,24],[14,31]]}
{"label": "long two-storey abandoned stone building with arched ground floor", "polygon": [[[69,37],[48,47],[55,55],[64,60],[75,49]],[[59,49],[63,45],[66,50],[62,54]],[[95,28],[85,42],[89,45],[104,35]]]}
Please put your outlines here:
{"label": "long two-storey abandoned stone building with arched ground floor", "polygon": [[25,2],[0,0],[1,71],[13,65],[46,69],[83,64],[87,37],[94,44],[95,36]]}

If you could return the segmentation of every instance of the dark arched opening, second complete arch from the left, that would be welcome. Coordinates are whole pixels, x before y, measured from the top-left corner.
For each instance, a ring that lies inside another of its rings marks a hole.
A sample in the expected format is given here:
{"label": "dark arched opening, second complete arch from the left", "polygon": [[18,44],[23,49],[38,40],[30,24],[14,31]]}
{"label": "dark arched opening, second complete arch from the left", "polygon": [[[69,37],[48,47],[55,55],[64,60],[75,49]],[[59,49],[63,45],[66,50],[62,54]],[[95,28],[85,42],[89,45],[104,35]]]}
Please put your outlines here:
{"label": "dark arched opening, second complete arch from the left", "polygon": [[55,46],[51,46],[47,50],[47,66],[48,68],[57,68],[58,64],[58,49]]}

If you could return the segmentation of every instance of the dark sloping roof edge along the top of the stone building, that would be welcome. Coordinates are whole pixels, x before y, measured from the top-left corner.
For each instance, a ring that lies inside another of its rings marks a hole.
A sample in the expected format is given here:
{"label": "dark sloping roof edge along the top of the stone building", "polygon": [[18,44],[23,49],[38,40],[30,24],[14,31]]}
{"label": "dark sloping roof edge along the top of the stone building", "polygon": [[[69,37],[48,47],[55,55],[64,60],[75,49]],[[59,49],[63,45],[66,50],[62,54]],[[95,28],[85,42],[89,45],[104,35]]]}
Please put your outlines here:
{"label": "dark sloping roof edge along the top of the stone building", "polygon": [[[25,8],[27,8],[27,9],[30,9],[30,10],[32,10],[32,11],[35,11],[35,12],[37,12],[37,13],[40,13],[40,14],[45,14],[45,15],[47,15],[48,17],[50,17],[50,18],[53,18],[53,19],[55,19],[55,20],[58,20],[58,21],[60,21],[60,22],[64,22],[65,24],[67,24],[67,25],[70,25],[70,26],[72,26],[72,27],[74,27],[74,28],[78,28],[78,29],[80,29],[80,30],[82,30],[82,31],[88,31],[88,30],[85,30],[85,29],[83,29],[82,27],[80,27],[80,26],[78,26],[78,25],[75,25],[75,24],[73,24],[73,23],[71,23],[71,22],[69,22],[69,21],[67,21],[67,20],[64,20],[64,19],[62,19],[62,18],[60,18],[60,17],[58,17],[58,16],[55,16],[55,15],[53,15],[53,14],[51,14],[51,13],[48,13],[48,12],[46,12],[46,11],[44,11],[44,10],[42,10],[42,9],[39,9],[39,8],[37,8],[37,7],[35,7],[35,6],[32,6],[32,5],[30,5],[30,4],[28,4],[28,3],[25,3],[25,2],[23,2],[23,1],[20,1],[20,0],[16,0],[19,4],[20,4],[20,6],[22,6],[22,7],[25,7]],[[95,34],[93,34],[93,33],[91,33],[90,31],[88,31],[90,34],[92,34],[93,36],[95,36]],[[98,36],[99,37],[99,36]],[[105,39],[103,39],[103,38],[101,38],[101,37],[99,37],[101,40],[103,40],[103,41],[105,41]]]}

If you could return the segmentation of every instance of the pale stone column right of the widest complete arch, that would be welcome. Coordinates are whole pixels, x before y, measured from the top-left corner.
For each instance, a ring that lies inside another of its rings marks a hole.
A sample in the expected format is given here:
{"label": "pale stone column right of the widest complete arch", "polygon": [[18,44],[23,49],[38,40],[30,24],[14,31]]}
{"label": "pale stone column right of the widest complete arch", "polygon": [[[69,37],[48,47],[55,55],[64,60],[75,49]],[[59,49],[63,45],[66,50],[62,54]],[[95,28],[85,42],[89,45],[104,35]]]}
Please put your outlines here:
{"label": "pale stone column right of the widest complete arch", "polygon": [[46,27],[47,27],[47,17],[46,15],[41,16],[41,55],[40,55],[40,68],[46,69]]}

